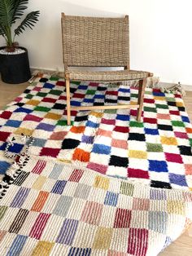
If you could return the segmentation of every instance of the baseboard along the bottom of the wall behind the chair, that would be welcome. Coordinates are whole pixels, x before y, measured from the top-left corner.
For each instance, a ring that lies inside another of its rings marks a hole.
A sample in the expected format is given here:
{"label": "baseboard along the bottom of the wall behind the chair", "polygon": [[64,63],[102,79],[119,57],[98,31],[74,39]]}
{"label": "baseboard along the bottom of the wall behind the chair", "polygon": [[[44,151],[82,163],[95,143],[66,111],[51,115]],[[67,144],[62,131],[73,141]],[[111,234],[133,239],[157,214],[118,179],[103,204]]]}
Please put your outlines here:
{"label": "baseboard along the bottom of the wall behind the chair", "polygon": [[[46,68],[35,68],[35,67],[31,67],[31,72],[34,73],[35,71],[39,71],[40,73],[47,73],[49,75],[54,75],[57,74],[59,75],[59,77],[64,77],[64,72],[63,71],[59,71],[56,69],[46,69]],[[168,88],[171,86],[174,86],[175,83],[172,82],[159,82],[159,86],[160,87],[164,87],[164,88]],[[184,90],[186,91],[192,91],[192,85],[183,85],[181,83],[181,86]]]}

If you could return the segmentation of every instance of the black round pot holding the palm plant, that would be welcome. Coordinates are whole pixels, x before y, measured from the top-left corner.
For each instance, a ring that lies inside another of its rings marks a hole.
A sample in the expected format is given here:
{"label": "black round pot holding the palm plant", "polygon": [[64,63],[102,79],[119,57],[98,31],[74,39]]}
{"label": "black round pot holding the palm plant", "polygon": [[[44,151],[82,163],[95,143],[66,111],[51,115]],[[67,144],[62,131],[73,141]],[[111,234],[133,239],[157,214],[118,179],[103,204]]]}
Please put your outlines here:
{"label": "black round pot holding the palm plant", "polygon": [[[0,47],[0,50],[5,47]],[[15,55],[0,54],[0,72],[2,81],[7,83],[27,82],[31,77],[28,62],[28,51],[24,47],[20,47],[24,53]]]}

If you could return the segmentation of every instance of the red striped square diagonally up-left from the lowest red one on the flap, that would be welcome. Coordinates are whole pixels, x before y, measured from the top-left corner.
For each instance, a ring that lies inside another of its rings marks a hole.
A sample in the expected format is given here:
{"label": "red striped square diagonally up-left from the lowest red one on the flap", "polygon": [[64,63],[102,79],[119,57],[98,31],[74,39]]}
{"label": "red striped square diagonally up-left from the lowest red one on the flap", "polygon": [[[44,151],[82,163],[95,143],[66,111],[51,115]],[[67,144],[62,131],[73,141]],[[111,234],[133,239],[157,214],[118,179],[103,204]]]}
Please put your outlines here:
{"label": "red striped square diagonally up-left from the lowest red one on the flap", "polygon": [[130,226],[131,221],[131,210],[127,209],[116,209],[116,217],[113,227],[126,228]]}

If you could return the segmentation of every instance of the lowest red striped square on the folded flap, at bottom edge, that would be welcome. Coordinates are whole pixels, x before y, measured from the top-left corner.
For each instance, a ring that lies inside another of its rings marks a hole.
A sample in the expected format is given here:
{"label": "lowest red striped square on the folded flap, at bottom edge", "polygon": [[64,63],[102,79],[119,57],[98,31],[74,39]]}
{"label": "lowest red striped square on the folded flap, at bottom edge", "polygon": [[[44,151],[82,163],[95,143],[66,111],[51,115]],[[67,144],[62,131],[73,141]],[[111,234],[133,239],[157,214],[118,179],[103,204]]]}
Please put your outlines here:
{"label": "lowest red striped square on the folded flap, at bottom edge", "polygon": [[128,254],[145,256],[148,247],[148,236],[148,230],[145,228],[130,228]]}

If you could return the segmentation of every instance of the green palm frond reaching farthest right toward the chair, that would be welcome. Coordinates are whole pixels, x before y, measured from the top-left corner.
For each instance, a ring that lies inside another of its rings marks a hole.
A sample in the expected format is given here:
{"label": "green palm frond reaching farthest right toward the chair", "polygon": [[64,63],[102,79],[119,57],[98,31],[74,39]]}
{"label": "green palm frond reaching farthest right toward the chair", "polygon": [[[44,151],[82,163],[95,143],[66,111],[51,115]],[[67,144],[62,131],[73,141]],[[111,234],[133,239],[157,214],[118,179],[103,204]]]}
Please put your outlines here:
{"label": "green palm frond reaching farthest right toward the chair", "polygon": [[33,29],[33,26],[38,21],[38,16],[40,14],[40,11],[32,11],[28,13],[28,15],[25,17],[25,19],[21,22],[19,27],[15,29],[15,35],[19,36],[20,33],[23,33],[26,28]]}

